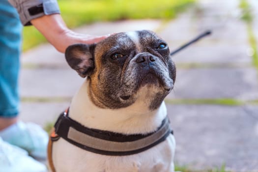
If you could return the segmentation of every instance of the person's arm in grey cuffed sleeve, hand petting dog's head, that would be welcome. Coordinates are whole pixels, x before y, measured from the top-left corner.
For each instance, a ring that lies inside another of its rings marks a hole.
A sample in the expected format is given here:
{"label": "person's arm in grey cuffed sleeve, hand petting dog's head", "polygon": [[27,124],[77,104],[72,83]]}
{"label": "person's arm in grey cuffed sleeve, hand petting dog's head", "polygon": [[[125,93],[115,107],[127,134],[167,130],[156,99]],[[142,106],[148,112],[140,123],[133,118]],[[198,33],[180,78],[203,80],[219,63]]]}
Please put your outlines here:
{"label": "person's arm in grey cuffed sleeve, hand petting dog's head", "polygon": [[56,0],[8,0],[24,26],[33,25],[59,52],[74,43],[94,43],[108,37],[79,34],[67,28]]}

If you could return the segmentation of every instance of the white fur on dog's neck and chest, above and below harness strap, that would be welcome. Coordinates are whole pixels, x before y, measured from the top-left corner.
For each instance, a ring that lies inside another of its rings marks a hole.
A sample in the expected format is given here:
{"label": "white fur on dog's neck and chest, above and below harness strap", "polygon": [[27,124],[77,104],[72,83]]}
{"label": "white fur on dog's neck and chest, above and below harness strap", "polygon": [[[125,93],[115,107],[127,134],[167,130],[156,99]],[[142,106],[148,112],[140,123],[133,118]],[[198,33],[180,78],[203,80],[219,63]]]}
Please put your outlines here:
{"label": "white fur on dog's neck and chest, above and below harness strap", "polygon": [[[87,82],[72,100],[69,116],[87,126],[124,134],[150,133],[157,129],[167,114],[165,103],[147,112],[143,97],[130,107],[119,110],[100,109],[87,96]],[[173,172],[175,140],[170,135],[164,142],[138,154],[107,156],[76,147],[63,139],[53,143],[53,162],[57,172]]]}

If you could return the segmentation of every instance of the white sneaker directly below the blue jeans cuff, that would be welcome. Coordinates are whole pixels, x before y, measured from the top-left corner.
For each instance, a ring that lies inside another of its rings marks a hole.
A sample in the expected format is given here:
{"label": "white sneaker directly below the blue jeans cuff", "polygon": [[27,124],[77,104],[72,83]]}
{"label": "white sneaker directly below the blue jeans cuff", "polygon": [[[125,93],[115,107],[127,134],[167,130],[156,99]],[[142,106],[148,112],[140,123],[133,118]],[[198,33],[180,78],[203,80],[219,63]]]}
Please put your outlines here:
{"label": "white sneaker directly below the blue jeans cuff", "polygon": [[3,141],[21,147],[29,155],[44,160],[47,157],[48,134],[39,125],[33,123],[17,123],[0,131]]}

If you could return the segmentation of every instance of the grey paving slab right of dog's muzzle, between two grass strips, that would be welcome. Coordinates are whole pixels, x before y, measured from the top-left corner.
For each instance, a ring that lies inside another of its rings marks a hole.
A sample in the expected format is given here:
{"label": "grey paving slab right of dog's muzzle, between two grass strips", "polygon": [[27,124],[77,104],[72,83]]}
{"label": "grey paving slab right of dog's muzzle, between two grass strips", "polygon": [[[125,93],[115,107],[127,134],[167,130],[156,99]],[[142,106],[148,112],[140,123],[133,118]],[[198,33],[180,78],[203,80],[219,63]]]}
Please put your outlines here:
{"label": "grey paving slab right of dog's muzzle, between two grass strips", "polygon": [[254,68],[178,69],[168,98],[257,99],[257,78]]}

